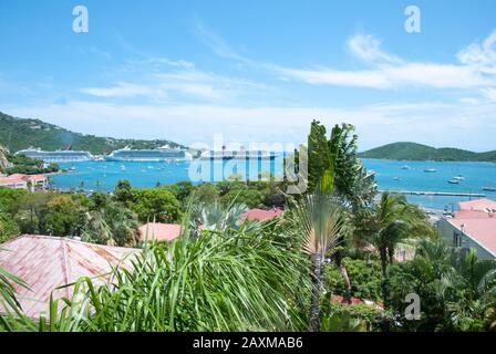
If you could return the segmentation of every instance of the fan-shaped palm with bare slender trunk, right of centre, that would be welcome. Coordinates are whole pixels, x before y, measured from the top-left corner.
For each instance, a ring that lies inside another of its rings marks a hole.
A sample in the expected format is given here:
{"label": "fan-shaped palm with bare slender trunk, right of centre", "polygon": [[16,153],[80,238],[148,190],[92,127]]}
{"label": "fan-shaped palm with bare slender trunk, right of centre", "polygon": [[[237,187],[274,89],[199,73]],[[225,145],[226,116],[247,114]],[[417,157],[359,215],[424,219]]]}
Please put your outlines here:
{"label": "fan-shaped palm with bare slender trunk, right of centre", "polygon": [[320,329],[324,260],[333,253],[339,240],[350,231],[349,218],[339,200],[322,192],[308,195],[296,202],[293,216],[293,231],[300,233],[301,249],[312,259],[309,330],[317,332]]}

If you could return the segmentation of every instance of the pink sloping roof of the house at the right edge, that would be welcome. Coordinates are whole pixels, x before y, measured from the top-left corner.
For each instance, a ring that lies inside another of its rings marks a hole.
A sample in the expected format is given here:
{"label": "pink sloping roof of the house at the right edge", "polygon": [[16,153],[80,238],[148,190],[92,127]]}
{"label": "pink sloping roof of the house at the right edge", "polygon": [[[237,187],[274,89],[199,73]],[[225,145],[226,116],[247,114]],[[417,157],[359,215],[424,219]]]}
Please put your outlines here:
{"label": "pink sloping roof of the house at the right edge", "polygon": [[[476,212],[476,211],[475,211]],[[453,218],[447,221],[457,229],[474,239],[482,247],[496,254],[496,216],[487,214],[486,217],[477,218],[477,214],[472,214],[465,218]],[[485,214],[485,212],[484,212]]]}

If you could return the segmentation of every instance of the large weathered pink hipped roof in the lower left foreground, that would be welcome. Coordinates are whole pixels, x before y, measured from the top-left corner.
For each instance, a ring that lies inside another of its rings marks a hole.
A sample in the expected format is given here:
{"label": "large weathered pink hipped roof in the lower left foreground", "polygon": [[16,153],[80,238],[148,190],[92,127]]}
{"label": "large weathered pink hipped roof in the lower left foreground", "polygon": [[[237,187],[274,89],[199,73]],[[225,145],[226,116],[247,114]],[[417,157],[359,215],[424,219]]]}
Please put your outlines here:
{"label": "large weathered pink hipped roof in the lower left foreground", "polygon": [[[18,300],[27,315],[38,317],[41,311],[49,313],[53,289],[81,277],[97,277],[95,283],[102,283],[102,275],[108,272],[110,264],[128,264],[130,256],[136,252],[140,250],[85,243],[70,238],[22,236],[0,244],[0,267],[30,287],[28,290],[16,285]],[[71,288],[60,289],[53,292],[53,296],[71,296]]]}

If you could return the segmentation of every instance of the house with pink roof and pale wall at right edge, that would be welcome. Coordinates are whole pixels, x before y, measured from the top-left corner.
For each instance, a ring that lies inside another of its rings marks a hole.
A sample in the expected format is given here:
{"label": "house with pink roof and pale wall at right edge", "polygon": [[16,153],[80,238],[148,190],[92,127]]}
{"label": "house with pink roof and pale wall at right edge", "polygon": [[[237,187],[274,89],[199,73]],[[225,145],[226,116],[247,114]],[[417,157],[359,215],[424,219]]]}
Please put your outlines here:
{"label": "house with pink roof and pale wall at right edge", "polygon": [[459,204],[461,211],[442,219],[437,229],[455,247],[475,249],[480,259],[496,258],[496,202],[478,199]]}

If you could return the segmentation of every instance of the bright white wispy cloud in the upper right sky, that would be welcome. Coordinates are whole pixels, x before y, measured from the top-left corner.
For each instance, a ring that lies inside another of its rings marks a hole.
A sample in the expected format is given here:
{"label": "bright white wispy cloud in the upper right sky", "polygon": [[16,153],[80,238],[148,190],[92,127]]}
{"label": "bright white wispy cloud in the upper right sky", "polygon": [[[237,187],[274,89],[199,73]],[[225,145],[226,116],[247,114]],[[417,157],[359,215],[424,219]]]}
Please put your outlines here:
{"label": "bright white wispy cloud in the upper right sky", "polygon": [[471,44],[458,53],[459,63],[414,62],[381,49],[381,42],[369,34],[358,34],[348,41],[350,52],[361,59],[368,70],[340,71],[328,67],[296,69],[272,66],[288,79],[309,84],[395,88],[427,86],[435,88],[474,88],[496,84],[493,67],[496,63],[493,45],[496,34],[483,45]]}

